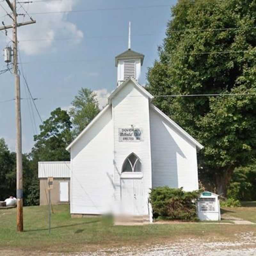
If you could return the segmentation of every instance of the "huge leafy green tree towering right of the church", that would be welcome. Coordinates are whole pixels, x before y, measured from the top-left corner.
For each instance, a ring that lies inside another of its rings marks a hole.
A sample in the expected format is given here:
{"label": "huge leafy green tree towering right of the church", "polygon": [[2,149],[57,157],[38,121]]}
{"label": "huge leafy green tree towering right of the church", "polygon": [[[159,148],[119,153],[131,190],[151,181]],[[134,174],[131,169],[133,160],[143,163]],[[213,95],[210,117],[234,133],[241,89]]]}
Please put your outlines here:
{"label": "huge leafy green tree towering right of the church", "polygon": [[222,94],[154,104],[204,145],[200,179],[224,195],[235,167],[255,156],[255,13],[255,0],[179,0],[148,70],[153,95]]}

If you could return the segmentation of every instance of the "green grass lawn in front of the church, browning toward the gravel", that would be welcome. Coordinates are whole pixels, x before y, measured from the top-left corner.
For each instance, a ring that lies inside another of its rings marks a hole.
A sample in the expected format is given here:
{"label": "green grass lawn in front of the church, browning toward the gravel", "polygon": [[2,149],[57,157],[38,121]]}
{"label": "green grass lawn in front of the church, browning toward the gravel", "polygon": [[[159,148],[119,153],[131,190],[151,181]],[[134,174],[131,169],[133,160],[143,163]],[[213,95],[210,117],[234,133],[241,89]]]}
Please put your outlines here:
{"label": "green grass lawn in front of the church, browning toward the gravel", "polygon": [[[16,232],[16,209],[0,210],[0,247],[6,250],[79,252],[187,238],[232,240],[237,239],[235,234],[239,232],[256,231],[254,226],[216,223],[113,226],[106,217],[71,219],[68,205],[55,205],[53,210],[50,236],[47,206],[24,207],[23,233]],[[256,222],[256,208],[231,208],[230,211],[230,214]]]}

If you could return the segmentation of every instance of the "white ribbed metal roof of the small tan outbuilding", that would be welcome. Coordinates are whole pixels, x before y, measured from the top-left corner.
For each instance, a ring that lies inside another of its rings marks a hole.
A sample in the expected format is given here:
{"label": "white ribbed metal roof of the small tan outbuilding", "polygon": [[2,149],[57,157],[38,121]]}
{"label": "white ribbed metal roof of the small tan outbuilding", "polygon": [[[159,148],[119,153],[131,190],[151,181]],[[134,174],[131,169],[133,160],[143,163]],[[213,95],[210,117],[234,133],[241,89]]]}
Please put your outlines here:
{"label": "white ribbed metal roof of the small tan outbuilding", "polygon": [[38,178],[70,178],[70,162],[38,162]]}

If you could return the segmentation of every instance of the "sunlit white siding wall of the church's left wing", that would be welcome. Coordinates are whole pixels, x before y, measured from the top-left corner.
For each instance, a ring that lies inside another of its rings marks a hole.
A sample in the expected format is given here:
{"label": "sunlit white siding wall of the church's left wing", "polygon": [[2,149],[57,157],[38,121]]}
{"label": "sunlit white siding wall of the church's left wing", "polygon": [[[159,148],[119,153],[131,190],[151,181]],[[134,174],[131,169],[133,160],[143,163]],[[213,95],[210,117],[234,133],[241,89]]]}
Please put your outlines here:
{"label": "sunlit white siding wall of the church's left wing", "polygon": [[111,107],[71,147],[71,213],[102,214],[114,199]]}

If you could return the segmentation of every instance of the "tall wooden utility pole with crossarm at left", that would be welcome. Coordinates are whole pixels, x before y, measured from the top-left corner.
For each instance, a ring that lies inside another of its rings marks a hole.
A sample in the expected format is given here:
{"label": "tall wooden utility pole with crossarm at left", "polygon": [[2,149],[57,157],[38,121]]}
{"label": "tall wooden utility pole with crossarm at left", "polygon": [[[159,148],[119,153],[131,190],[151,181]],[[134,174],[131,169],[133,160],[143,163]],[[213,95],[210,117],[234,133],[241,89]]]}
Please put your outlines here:
{"label": "tall wooden utility pole with crossarm at left", "polygon": [[0,27],[0,30],[12,28],[13,74],[15,77],[15,112],[16,112],[16,168],[17,168],[17,231],[23,231],[23,186],[22,186],[22,145],[21,145],[21,113],[20,113],[20,76],[18,73],[18,40],[17,27],[36,23],[31,21],[17,23],[16,0],[5,0],[12,10],[12,26]]}

